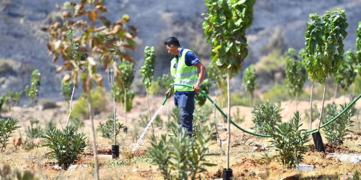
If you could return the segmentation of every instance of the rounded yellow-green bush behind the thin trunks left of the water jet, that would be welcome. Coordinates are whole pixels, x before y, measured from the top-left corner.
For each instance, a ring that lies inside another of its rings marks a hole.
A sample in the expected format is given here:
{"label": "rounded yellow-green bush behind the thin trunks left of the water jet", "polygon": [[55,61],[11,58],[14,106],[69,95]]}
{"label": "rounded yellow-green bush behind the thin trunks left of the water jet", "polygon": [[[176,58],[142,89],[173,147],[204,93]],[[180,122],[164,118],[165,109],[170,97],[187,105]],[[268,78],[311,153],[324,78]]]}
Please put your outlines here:
{"label": "rounded yellow-green bush behind the thin trunks left of the water jet", "polygon": [[[102,111],[105,111],[106,107],[106,99],[104,98],[105,92],[102,88],[97,87],[96,89],[91,90],[91,97],[92,97],[92,107],[93,113],[99,114]],[[79,99],[78,102],[74,105],[73,111],[71,111],[70,118],[82,117],[82,118],[89,118],[89,110],[88,110],[88,99],[86,94],[83,94]]]}

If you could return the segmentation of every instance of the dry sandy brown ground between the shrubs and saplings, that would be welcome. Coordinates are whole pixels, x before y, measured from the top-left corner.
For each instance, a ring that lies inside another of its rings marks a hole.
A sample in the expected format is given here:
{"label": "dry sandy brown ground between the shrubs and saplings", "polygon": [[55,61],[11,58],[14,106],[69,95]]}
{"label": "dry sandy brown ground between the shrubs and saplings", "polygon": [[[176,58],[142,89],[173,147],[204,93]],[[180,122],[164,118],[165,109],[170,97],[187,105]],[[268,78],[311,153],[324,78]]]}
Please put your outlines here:
{"label": "dry sandy brown ground between the shrubs and saplings", "polygon": [[[163,97],[151,96],[151,109],[155,112],[163,101]],[[326,101],[325,104],[335,102],[336,104],[349,103],[350,99],[347,96],[340,96],[337,99],[331,99]],[[157,166],[150,163],[149,157],[147,157],[147,150],[150,147],[149,137],[145,138],[145,141],[139,146],[138,151],[135,154],[131,154],[131,148],[135,145],[136,140],[134,137],[142,132],[144,127],[138,127],[137,121],[141,114],[147,114],[147,101],[145,97],[135,97],[134,108],[127,114],[128,121],[124,121],[123,108],[117,105],[117,111],[119,112],[119,119],[127,127],[129,127],[128,133],[121,133],[119,138],[120,154],[121,158],[112,160],[109,158],[111,154],[112,142],[110,139],[105,139],[97,134],[97,147],[99,155],[100,165],[100,177],[101,179],[163,179]],[[314,101],[318,107],[320,107],[321,101]],[[45,122],[49,119],[53,119],[57,122],[57,127],[61,128],[65,126],[67,117],[67,109],[65,102],[57,102],[58,107],[54,109],[39,110],[38,106],[31,107],[13,107],[11,112],[3,113],[4,116],[12,116],[20,121],[21,128],[13,133],[12,139],[22,137],[25,139],[25,128],[29,126],[30,117],[35,117],[40,120],[42,127],[45,126]],[[168,121],[168,113],[173,107],[173,99],[170,99],[163,110],[160,112],[161,118],[164,123]],[[358,110],[361,109],[361,101],[356,106]],[[231,108],[232,112],[236,112],[237,108],[240,111],[240,116],[244,117],[245,121],[239,124],[245,129],[252,127],[251,122],[251,108],[243,106],[234,106]],[[285,101],[281,103],[281,115],[283,121],[288,121],[295,112],[295,102]],[[99,122],[105,122],[107,115],[111,113],[112,104],[109,103],[108,112],[102,112],[95,115],[95,126],[97,127]],[[308,129],[308,119],[304,118],[304,112],[308,111],[309,102],[299,102],[298,110],[302,113],[303,128]],[[226,108],[224,108],[226,112]],[[218,113],[218,124],[220,137],[222,139],[223,147],[226,147],[226,131],[223,130],[224,123]],[[280,179],[282,177],[290,175],[299,175],[302,179],[323,179],[323,178],[337,178],[342,174],[353,172],[355,169],[361,169],[361,163],[352,164],[338,159],[328,157],[328,153],[356,153],[360,154],[361,149],[358,145],[361,142],[361,133],[359,132],[359,118],[355,118],[354,130],[355,133],[349,135],[344,145],[334,147],[326,144],[326,154],[315,152],[312,139],[308,145],[311,145],[309,151],[305,154],[302,164],[313,165],[315,169],[312,171],[298,171],[295,169],[284,168],[276,158],[272,158],[269,164],[262,163],[261,157],[265,153],[270,156],[275,155],[274,148],[266,148],[266,150],[255,150],[255,145],[262,145],[264,147],[269,146],[267,138],[260,138],[246,134],[236,127],[231,127],[231,149],[230,149],[230,166],[233,170],[234,179]],[[91,137],[91,127],[88,119],[84,120],[85,126],[81,131]],[[317,121],[312,125],[313,128],[317,126]],[[148,132],[150,134],[151,130]],[[155,128],[155,134],[166,133],[166,129]],[[326,140],[324,140],[326,141]],[[11,142],[11,141],[10,141]],[[39,139],[39,144],[43,142]],[[213,141],[210,146],[210,152],[220,152],[218,144]],[[40,179],[91,179],[93,177],[94,159],[93,151],[91,147],[91,140],[88,139],[88,146],[85,152],[80,156],[76,162],[78,167],[74,171],[63,171],[53,168],[56,165],[55,159],[50,159],[45,154],[49,152],[46,147],[35,147],[32,150],[26,151],[22,148],[14,148],[11,143],[0,153],[0,165],[10,165],[13,169],[19,169],[21,171],[30,170]],[[221,170],[225,167],[226,156],[218,155],[209,157],[209,162],[217,164],[218,166],[207,168],[208,172],[202,174],[205,179],[221,178]]]}

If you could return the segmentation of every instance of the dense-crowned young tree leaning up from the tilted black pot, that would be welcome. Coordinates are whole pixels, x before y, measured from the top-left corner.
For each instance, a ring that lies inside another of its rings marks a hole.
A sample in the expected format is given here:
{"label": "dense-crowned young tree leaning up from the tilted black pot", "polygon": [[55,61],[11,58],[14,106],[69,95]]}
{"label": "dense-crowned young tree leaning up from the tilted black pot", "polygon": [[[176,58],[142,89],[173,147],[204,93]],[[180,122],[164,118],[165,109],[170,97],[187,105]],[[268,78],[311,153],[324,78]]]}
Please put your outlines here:
{"label": "dense-crowned young tree leaning up from the tilted black pot", "polygon": [[306,70],[312,79],[324,84],[321,113],[317,131],[321,125],[324,96],[326,94],[327,78],[335,74],[344,55],[343,39],[347,36],[345,10],[326,11],[322,17],[317,13],[310,14],[306,25],[305,45]]}

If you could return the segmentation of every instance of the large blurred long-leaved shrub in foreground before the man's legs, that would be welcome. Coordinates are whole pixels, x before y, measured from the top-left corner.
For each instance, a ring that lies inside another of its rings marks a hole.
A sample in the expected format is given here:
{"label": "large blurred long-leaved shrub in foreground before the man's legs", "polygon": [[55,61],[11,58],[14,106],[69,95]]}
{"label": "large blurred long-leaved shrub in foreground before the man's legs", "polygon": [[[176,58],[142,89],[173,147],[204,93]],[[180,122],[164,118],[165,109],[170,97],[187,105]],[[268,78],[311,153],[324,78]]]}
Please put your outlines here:
{"label": "large blurred long-leaved shrub in foreground before the man's legs", "polygon": [[151,136],[149,150],[149,157],[158,165],[165,179],[201,178],[199,173],[206,171],[205,167],[216,166],[206,161],[207,156],[215,155],[208,153],[211,140],[208,127],[202,128],[195,139],[175,122],[170,126],[171,136],[163,134],[159,141],[154,134]]}

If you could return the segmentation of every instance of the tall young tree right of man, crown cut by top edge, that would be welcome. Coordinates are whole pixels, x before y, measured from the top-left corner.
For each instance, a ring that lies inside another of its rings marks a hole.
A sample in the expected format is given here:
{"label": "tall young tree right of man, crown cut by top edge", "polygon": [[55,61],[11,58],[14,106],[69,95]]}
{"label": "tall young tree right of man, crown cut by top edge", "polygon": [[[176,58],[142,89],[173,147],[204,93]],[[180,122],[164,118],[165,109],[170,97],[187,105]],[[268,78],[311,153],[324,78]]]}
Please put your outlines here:
{"label": "tall young tree right of man, crown cut by top edge", "polygon": [[203,30],[211,44],[211,59],[222,70],[227,70],[228,115],[227,115],[227,170],[230,149],[230,85],[229,79],[237,75],[248,54],[246,29],[253,20],[255,0],[206,0]]}

